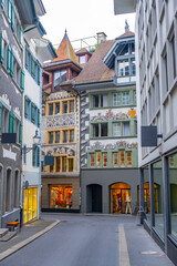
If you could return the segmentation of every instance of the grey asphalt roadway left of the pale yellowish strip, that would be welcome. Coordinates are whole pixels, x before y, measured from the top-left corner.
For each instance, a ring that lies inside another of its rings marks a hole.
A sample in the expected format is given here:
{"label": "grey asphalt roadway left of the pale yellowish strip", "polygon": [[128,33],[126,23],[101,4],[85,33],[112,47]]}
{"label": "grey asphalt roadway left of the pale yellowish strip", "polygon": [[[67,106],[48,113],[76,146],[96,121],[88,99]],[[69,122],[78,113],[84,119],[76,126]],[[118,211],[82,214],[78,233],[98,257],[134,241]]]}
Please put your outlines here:
{"label": "grey asphalt roadway left of the pale yellowish strip", "polygon": [[67,214],[43,218],[62,222],[1,266],[118,266],[118,223],[124,218]]}

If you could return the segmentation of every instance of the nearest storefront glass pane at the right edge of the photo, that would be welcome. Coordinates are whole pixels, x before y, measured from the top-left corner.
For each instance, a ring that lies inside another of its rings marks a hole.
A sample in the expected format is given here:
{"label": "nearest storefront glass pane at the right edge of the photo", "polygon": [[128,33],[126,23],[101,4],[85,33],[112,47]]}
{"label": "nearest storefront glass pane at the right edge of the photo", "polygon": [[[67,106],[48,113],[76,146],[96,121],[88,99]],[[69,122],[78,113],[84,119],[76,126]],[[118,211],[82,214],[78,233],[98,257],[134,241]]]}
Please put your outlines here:
{"label": "nearest storefront glass pane at the right edge of the photo", "polygon": [[[173,160],[170,158],[173,157]],[[176,226],[176,214],[177,214],[177,154],[168,157],[168,168],[169,168],[169,216],[170,216],[170,235],[177,241],[177,226]],[[174,166],[171,166],[171,161]]]}

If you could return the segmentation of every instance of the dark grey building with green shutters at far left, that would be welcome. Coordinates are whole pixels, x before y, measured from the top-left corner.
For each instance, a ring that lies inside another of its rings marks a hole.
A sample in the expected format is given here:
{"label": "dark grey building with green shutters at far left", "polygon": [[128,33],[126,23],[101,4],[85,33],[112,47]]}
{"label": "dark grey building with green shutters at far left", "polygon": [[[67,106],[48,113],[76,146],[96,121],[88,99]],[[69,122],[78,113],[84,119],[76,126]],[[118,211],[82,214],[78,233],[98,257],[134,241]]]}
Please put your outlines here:
{"label": "dark grey building with green shutters at far left", "polygon": [[22,23],[14,1],[0,6],[0,140],[17,133],[13,144],[0,144],[0,227],[20,221],[23,49]]}

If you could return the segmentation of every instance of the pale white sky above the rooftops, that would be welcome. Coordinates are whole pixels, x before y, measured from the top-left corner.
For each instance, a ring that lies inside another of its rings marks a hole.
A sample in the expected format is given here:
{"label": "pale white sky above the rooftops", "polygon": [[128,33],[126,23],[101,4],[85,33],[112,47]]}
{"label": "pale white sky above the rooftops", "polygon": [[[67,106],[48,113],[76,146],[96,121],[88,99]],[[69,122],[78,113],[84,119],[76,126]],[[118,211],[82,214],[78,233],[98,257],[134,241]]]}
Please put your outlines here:
{"label": "pale white sky above the rooftops", "polygon": [[[129,30],[135,31],[135,14],[114,14],[114,0],[43,0],[46,13],[41,22],[46,31],[45,38],[58,48],[65,29],[70,41],[105,32],[107,40],[125,32],[125,19]],[[79,42],[73,42],[79,45]],[[91,43],[90,43],[91,44]]]}

